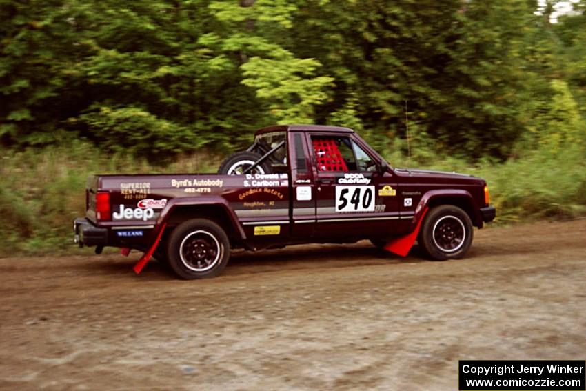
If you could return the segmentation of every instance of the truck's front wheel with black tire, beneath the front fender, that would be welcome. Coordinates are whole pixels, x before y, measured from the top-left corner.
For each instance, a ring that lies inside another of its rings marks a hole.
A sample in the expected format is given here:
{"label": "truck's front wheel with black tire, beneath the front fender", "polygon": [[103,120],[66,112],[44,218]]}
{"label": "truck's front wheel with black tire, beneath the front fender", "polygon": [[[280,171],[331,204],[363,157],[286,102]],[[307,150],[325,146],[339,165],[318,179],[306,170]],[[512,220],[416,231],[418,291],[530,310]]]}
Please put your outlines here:
{"label": "truck's front wheel with black tire, beneath the front fender", "polygon": [[472,245],[474,229],[466,212],[454,205],[433,208],[419,233],[421,249],[436,261],[460,259]]}

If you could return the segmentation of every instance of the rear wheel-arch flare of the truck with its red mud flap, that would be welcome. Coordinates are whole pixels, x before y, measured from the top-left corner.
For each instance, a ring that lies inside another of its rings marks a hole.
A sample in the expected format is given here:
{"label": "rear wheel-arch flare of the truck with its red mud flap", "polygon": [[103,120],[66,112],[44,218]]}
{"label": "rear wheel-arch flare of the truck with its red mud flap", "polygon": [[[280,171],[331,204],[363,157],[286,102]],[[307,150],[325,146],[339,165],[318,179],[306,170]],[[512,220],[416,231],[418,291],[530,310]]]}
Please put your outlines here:
{"label": "rear wheel-arch flare of the truck with its red mud flap", "polygon": [[[236,230],[236,232],[240,235],[242,240],[246,239],[246,234],[242,229],[238,218],[236,217],[236,213],[234,210],[230,208],[228,205],[228,201],[223,199],[222,197],[182,197],[182,198],[174,198],[171,199],[165,208],[161,211],[159,215],[159,219],[156,219],[156,223],[154,225],[153,230],[150,232],[149,241],[152,243],[151,247],[143,254],[141,259],[134,265],[134,272],[139,274],[141,270],[145,267],[147,262],[152,257],[152,254],[156,250],[156,246],[159,245],[161,241],[161,237],[163,237],[163,232],[165,230],[165,226],[167,225],[167,221],[171,216],[174,209],[179,208],[181,206],[210,206],[210,205],[219,205],[226,213],[228,213],[228,217],[230,218],[230,223],[232,223],[232,227]],[[130,251],[128,251],[130,252]],[[122,250],[122,253],[128,255],[126,249]]]}

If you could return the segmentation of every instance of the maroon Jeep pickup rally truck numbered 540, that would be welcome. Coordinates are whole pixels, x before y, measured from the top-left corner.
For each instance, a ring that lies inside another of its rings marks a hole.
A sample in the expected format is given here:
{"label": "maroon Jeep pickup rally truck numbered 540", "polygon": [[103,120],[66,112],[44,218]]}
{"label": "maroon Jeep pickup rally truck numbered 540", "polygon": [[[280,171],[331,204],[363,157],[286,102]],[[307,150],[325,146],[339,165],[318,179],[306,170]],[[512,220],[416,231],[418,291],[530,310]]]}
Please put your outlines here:
{"label": "maroon Jeep pickup rally truck numbered 540", "polygon": [[219,274],[231,248],[370,239],[405,256],[417,240],[432,259],[461,258],[473,225],[495,217],[483,179],[392,168],[361,137],[333,126],[272,126],[219,174],[92,175],[82,245],[144,252],[183,279]]}

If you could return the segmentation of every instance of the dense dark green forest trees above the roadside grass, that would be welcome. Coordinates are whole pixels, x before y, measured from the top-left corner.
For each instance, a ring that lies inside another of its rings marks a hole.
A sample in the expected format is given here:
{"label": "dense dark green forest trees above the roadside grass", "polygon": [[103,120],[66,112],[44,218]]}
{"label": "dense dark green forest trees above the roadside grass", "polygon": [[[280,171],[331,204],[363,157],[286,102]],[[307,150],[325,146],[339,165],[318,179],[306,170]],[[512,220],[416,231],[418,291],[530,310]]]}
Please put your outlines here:
{"label": "dense dark green forest trees above the roadside grass", "polygon": [[584,2],[555,25],[547,4],[0,0],[0,141],[156,157],[297,122],[385,149],[407,106],[443,150],[506,159],[560,88],[586,101]]}

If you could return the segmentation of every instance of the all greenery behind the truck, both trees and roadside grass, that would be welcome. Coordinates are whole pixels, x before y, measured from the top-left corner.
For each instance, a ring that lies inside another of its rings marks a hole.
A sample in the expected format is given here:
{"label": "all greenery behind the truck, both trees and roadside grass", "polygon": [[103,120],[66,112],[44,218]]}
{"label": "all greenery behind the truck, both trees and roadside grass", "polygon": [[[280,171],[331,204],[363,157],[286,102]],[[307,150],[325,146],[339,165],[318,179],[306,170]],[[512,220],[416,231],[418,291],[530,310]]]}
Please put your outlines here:
{"label": "all greenery behind the truck, both trees and roadside grass", "polygon": [[542,3],[0,0],[0,256],[76,251],[88,174],[215,172],[274,123],[484,177],[496,224],[585,216],[586,0]]}

